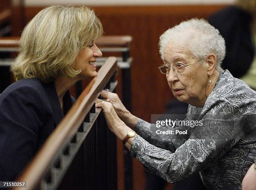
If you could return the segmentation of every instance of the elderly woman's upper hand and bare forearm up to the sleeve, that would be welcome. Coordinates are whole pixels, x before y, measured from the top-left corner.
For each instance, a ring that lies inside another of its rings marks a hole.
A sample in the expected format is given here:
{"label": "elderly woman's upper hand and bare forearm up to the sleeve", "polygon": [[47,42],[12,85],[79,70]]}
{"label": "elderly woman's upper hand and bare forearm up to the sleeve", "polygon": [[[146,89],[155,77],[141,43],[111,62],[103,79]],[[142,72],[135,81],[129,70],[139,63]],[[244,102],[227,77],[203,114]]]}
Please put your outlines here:
{"label": "elderly woman's upper hand and bare forearm up to the sleeve", "polygon": [[131,128],[134,128],[136,126],[138,122],[138,117],[132,115],[131,112],[129,112],[125,108],[117,94],[102,90],[101,97],[106,98],[106,102],[110,102],[113,105],[118,117],[123,120],[126,125]]}

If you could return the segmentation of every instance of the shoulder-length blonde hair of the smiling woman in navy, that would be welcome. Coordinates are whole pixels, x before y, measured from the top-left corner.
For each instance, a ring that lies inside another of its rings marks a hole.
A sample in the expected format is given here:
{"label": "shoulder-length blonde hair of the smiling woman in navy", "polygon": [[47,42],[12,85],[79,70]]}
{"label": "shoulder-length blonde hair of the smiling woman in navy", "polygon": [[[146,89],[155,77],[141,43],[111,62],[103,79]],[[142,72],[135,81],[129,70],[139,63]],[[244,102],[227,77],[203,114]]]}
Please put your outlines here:
{"label": "shoulder-length blonde hair of the smiling woman in navy", "polygon": [[51,6],[26,25],[20,37],[20,53],[11,70],[16,80],[76,77],[73,63],[79,50],[103,33],[102,24],[88,7]]}

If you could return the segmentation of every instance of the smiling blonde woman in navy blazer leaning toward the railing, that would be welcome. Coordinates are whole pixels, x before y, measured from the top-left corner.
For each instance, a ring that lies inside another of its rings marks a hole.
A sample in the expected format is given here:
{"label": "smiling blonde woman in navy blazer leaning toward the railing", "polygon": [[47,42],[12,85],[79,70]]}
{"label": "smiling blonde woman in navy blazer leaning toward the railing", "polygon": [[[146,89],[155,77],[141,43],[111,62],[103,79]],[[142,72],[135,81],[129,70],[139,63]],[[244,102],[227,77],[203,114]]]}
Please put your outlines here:
{"label": "smiling blonde woman in navy blazer leaning toward the railing", "polygon": [[68,112],[69,88],[97,75],[100,35],[95,13],[72,6],[45,8],[23,30],[17,81],[0,95],[0,181],[15,180]]}

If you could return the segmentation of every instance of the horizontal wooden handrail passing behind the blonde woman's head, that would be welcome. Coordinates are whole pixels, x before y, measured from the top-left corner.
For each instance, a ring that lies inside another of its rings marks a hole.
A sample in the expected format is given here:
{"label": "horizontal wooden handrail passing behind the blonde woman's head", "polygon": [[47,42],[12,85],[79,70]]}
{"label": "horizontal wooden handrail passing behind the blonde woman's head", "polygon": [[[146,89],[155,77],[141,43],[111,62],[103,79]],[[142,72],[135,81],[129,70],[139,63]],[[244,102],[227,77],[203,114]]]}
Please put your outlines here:
{"label": "horizontal wooden handrail passing behind the blonde woman's head", "polygon": [[[95,43],[98,47],[128,47],[131,41],[131,36],[105,35],[95,40]],[[19,42],[19,36],[0,37],[0,47],[18,47]]]}

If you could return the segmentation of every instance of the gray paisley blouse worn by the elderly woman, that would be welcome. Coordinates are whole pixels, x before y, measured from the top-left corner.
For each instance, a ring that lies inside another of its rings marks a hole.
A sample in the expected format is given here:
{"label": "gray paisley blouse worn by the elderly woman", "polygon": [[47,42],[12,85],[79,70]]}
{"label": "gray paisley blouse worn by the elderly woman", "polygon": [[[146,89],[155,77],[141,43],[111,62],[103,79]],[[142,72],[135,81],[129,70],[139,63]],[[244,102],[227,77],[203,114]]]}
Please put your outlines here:
{"label": "gray paisley blouse worn by the elderly woman", "polygon": [[[156,128],[139,119],[131,155],[169,183],[200,172],[207,189],[240,190],[256,158],[256,92],[225,70],[204,107],[189,105],[185,120],[203,125]],[[160,135],[159,129],[187,134]]]}

